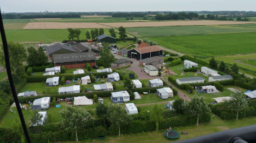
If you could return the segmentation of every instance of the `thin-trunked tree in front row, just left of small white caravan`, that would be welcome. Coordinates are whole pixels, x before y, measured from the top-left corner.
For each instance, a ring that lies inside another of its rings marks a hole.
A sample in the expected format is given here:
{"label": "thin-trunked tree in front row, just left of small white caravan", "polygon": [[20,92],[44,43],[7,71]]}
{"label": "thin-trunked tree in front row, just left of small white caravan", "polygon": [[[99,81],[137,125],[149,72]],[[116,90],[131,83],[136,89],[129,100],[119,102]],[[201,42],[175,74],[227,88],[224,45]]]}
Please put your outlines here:
{"label": "thin-trunked tree in front row, just left of small white caravan", "polygon": [[107,119],[114,126],[118,126],[119,136],[120,136],[120,126],[127,125],[132,120],[131,115],[127,114],[124,108],[114,103],[111,103],[107,106]]}

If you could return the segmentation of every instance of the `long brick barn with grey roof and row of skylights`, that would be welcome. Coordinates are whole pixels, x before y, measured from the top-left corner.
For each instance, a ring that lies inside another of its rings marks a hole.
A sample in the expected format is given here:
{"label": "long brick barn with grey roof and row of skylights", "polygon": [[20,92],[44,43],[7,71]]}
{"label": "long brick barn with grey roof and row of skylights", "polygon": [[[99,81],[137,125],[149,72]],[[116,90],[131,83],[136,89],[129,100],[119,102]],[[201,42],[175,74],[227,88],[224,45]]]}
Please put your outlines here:
{"label": "long brick barn with grey roof and row of skylights", "polygon": [[96,65],[96,57],[93,52],[86,53],[65,53],[53,55],[54,65],[64,65],[66,69],[86,67],[86,63],[91,66]]}

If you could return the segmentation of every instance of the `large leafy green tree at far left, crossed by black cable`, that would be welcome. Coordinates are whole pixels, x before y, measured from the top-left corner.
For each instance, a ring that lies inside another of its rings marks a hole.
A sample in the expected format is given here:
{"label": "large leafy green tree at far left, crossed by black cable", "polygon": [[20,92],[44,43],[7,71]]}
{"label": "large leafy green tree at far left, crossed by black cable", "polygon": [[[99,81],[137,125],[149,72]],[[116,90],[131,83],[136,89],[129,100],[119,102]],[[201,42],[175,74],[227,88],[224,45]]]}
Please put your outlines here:
{"label": "large leafy green tree at far left, crossed by black cable", "polygon": [[[4,59],[4,47],[1,45],[2,50],[0,50],[0,65],[6,68]],[[15,73],[17,76],[23,76],[25,69],[23,67],[23,62],[27,59],[27,50],[20,43],[8,42],[9,58],[11,72]]]}

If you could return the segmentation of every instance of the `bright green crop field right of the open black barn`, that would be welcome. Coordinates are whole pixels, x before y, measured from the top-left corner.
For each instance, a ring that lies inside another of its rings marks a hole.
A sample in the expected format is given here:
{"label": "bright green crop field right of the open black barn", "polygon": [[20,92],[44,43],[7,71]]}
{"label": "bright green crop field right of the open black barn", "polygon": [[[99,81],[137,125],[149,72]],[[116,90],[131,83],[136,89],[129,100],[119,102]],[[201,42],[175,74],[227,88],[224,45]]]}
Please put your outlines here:
{"label": "bright green crop field right of the open black barn", "polygon": [[256,32],[151,37],[159,45],[198,57],[255,53]]}

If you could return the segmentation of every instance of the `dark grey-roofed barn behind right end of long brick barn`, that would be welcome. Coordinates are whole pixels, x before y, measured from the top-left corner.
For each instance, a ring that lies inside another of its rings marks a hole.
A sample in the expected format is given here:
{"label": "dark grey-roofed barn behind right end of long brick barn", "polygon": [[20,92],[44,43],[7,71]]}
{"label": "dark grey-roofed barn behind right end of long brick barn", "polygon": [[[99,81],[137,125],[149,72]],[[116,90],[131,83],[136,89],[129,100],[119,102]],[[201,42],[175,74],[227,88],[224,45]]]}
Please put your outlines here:
{"label": "dark grey-roofed barn behind right end of long brick barn", "polygon": [[99,49],[97,49],[93,46],[86,45],[84,43],[79,43],[77,45],[74,45],[73,49],[78,53],[93,52],[95,56],[100,56],[100,50]]}

